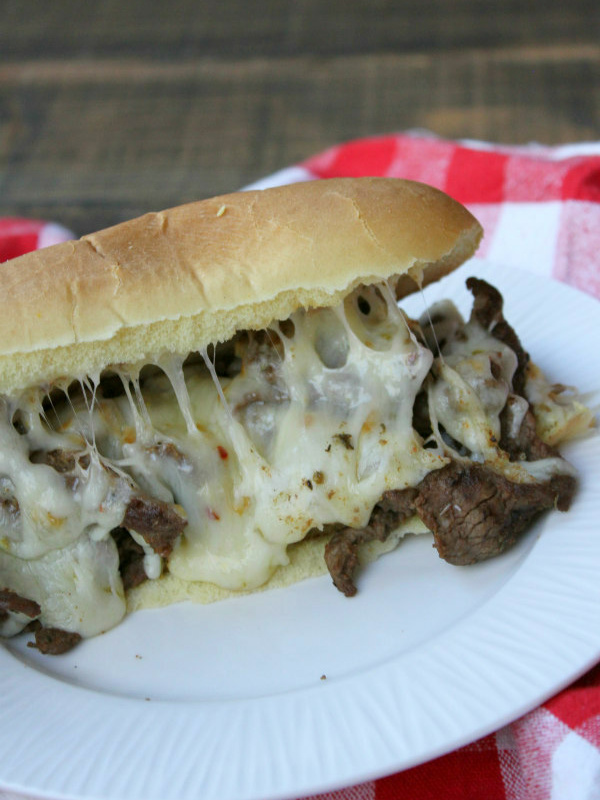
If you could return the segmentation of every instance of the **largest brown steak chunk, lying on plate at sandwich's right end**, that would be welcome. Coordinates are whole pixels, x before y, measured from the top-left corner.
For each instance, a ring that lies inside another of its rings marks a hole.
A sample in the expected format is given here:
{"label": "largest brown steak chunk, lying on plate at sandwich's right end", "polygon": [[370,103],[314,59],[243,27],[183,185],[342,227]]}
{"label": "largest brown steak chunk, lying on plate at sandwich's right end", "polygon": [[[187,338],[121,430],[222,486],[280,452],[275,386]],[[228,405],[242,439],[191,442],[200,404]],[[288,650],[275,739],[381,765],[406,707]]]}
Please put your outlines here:
{"label": "largest brown steak chunk, lying on plate at sandwich's right end", "polygon": [[542,511],[566,511],[574,491],[570,475],[513,483],[487,467],[452,462],[427,475],[415,505],[441,558],[466,565],[504,552]]}

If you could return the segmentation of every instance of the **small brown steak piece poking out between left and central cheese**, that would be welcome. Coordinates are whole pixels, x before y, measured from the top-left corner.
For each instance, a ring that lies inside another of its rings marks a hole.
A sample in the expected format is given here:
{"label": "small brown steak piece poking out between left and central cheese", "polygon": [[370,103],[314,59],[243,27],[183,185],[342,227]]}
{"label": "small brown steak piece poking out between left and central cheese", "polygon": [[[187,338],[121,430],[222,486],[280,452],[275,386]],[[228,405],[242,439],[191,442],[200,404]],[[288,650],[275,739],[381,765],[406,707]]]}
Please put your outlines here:
{"label": "small brown steak piece poking out between left and central cheese", "polygon": [[136,495],[127,505],[122,525],[139,533],[155,553],[165,558],[173,550],[187,520],[169,503]]}

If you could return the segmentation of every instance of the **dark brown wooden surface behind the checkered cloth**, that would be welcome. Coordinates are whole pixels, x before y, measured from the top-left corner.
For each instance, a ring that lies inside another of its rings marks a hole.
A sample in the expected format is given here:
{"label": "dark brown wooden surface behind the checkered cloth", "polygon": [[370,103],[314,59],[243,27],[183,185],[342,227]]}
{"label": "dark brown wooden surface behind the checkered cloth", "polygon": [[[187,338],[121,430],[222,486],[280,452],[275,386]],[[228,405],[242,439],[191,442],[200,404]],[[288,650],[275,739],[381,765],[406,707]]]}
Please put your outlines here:
{"label": "dark brown wooden surface behind the checkered cloth", "polygon": [[0,215],[78,234],[407,128],[600,138],[598,0],[0,0]]}

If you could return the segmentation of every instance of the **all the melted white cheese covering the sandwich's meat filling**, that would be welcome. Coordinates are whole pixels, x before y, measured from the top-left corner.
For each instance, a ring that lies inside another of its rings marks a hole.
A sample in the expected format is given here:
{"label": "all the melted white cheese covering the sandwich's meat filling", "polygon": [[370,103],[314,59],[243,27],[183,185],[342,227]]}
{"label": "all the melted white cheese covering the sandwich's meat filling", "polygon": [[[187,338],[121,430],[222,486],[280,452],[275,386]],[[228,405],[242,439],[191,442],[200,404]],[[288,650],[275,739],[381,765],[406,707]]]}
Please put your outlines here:
{"label": "all the melted white cheese covering the sandwich's meat filling", "polygon": [[[455,309],[438,316],[435,380],[431,349],[382,284],[274,323],[271,346],[246,350],[227,378],[207,353],[187,366],[165,356],[151,374],[115,368],[123,390],[110,398],[97,396],[96,376],[62,402],[43,404],[41,390],[2,400],[0,584],[38,602],[44,625],[91,636],[125,613],[110,533],[136,492],[185,512],[172,575],[244,590],[286,565],[310,530],[364,526],[386,490],[456,457],[441,428],[515,480],[564,469],[508,464],[496,444],[516,356]],[[412,425],[424,385],[427,447]],[[66,472],[35,457],[52,451],[71,459]],[[157,578],[162,559],[132,536]]]}

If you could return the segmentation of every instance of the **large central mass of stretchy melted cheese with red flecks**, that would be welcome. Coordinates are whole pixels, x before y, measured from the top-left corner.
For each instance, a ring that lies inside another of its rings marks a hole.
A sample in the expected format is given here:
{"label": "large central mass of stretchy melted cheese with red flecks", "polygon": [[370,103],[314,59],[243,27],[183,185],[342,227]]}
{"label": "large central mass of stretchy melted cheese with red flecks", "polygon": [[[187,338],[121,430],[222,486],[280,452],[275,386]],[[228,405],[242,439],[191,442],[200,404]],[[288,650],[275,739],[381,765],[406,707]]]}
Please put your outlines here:
{"label": "large central mass of stretchy melted cheese with red flecks", "polygon": [[309,530],[365,525],[386,489],[440,466],[412,428],[431,361],[389,292],[363,289],[275,324],[237,375],[217,377],[207,354],[207,368],[162,359],[143,412],[132,392],[98,401],[96,439],[145,492],[185,509],[170,572],[256,588]]}

